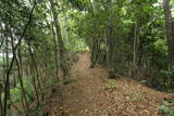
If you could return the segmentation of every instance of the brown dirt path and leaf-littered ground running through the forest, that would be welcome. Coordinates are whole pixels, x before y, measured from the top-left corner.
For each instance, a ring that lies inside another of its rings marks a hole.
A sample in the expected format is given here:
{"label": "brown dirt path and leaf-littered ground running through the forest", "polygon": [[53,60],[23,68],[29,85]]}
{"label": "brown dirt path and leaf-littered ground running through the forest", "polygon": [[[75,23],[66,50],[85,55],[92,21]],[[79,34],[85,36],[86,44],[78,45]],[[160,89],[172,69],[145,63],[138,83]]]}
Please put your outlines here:
{"label": "brown dirt path and leaf-littered ground running through the forest", "polygon": [[171,94],[140,82],[107,79],[104,68],[89,68],[89,53],[78,53],[71,82],[58,88],[50,101],[50,116],[159,116],[158,106]]}

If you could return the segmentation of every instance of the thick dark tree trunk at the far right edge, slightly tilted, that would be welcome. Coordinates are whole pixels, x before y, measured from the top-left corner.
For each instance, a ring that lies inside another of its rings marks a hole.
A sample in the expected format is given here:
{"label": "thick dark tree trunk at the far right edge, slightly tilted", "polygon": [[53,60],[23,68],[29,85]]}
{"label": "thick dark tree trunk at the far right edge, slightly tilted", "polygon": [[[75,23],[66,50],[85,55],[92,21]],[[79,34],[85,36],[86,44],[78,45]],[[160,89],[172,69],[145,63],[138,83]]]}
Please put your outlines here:
{"label": "thick dark tree trunk at the far right edge, slightly tilted", "polygon": [[170,67],[174,68],[174,36],[173,36],[173,27],[172,27],[172,13],[170,7],[171,0],[163,1],[164,14],[165,14],[165,26],[166,26],[166,39],[169,46],[169,60],[170,60]]}

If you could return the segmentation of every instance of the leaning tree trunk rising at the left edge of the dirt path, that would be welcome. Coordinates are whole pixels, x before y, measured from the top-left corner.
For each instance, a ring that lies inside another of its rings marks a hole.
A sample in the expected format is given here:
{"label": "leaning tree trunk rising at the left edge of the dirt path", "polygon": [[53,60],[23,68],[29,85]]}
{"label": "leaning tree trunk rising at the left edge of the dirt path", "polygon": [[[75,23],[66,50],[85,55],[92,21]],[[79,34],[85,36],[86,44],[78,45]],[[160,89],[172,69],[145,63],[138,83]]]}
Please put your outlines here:
{"label": "leaning tree trunk rising at the left edge of the dirt path", "polygon": [[67,65],[67,55],[66,55],[66,50],[62,40],[61,36],[61,28],[59,25],[59,20],[58,20],[58,13],[53,3],[53,0],[49,0],[51,4],[51,11],[53,14],[53,21],[54,21],[54,26],[57,30],[57,39],[58,39],[58,44],[59,44],[59,55],[60,55],[60,66],[63,70],[64,79],[66,79],[70,74],[69,74],[69,65]]}

